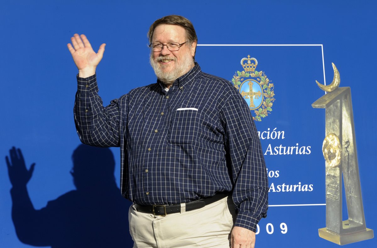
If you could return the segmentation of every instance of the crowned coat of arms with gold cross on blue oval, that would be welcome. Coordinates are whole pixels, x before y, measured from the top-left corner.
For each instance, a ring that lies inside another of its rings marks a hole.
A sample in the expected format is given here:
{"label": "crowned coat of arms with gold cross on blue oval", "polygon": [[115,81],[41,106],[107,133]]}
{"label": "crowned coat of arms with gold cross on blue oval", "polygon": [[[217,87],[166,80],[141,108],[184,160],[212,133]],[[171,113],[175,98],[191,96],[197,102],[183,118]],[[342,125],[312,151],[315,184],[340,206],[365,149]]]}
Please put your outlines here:
{"label": "crowned coat of arms with gold cross on blue oval", "polygon": [[[245,62],[245,63],[244,63]],[[256,71],[258,61],[255,58],[241,60],[243,71],[237,71],[231,82],[246,100],[253,119],[261,121],[272,111],[275,101],[274,84],[268,79],[264,71]]]}

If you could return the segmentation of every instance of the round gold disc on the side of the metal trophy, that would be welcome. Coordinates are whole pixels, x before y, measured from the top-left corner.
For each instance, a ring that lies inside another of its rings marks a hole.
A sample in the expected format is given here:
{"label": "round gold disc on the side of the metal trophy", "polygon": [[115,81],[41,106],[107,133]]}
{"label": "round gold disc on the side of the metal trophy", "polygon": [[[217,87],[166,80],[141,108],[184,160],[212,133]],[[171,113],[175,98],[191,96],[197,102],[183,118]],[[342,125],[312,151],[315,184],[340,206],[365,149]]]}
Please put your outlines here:
{"label": "round gold disc on the side of the metal trophy", "polygon": [[334,133],[328,134],[323,140],[322,145],[323,157],[326,163],[331,167],[338,167],[342,159],[342,145],[338,136]]}

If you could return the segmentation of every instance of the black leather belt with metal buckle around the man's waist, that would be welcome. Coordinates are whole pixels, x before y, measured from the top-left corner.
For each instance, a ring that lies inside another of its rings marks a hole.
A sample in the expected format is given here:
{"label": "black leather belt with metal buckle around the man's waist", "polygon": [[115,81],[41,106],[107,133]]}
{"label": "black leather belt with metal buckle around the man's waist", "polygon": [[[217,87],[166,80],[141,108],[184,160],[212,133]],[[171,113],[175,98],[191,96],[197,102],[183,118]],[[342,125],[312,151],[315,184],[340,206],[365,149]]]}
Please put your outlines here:
{"label": "black leather belt with metal buckle around the man's waist", "polygon": [[[229,195],[229,192],[219,192],[216,193],[214,196],[202,198],[199,200],[193,200],[192,202],[187,202],[186,211],[202,208],[205,205],[217,202],[218,200],[221,200]],[[135,208],[137,211],[142,213],[161,216],[166,216],[167,214],[181,213],[181,204],[146,206],[135,203]]]}

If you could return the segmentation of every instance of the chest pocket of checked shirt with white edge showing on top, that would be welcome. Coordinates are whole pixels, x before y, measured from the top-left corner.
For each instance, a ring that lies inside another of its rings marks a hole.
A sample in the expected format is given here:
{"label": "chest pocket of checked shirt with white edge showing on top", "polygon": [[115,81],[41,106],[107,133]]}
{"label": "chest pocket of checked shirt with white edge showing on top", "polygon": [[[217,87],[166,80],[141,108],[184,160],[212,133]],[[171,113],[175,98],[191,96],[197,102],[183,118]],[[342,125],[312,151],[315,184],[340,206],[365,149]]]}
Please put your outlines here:
{"label": "chest pocket of checked shirt with white edge showing on top", "polygon": [[199,110],[177,109],[170,122],[168,143],[191,144],[198,136]]}

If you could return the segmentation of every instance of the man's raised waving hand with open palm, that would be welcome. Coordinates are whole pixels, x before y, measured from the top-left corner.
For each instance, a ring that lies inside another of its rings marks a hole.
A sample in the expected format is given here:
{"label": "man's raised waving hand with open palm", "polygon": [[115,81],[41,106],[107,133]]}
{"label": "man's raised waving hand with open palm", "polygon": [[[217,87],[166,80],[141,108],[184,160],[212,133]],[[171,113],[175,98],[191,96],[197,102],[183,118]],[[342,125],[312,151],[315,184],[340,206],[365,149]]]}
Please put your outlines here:
{"label": "man's raised waving hand with open palm", "polygon": [[106,44],[103,43],[100,49],[98,49],[98,52],[95,53],[84,34],[74,34],[74,37],[71,37],[71,42],[73,46],[68,43],[67,47],[78,68],[78,76],[89,77],[95,74],[95,69],[103,57]]}

